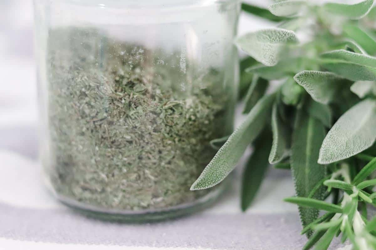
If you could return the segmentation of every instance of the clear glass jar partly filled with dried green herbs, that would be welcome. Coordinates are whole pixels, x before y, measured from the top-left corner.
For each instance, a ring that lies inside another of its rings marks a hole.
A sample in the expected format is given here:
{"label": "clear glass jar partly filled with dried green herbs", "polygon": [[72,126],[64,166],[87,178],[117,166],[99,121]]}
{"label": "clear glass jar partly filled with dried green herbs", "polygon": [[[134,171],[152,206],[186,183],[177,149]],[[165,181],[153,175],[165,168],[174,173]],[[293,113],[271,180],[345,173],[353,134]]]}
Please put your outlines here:
{"label": "clear glass jar partly filled with dried green herbs", "polygon": [[106,219],[181,216],[233,129],[236,0],[35,0],[41,161],[58,199]]}

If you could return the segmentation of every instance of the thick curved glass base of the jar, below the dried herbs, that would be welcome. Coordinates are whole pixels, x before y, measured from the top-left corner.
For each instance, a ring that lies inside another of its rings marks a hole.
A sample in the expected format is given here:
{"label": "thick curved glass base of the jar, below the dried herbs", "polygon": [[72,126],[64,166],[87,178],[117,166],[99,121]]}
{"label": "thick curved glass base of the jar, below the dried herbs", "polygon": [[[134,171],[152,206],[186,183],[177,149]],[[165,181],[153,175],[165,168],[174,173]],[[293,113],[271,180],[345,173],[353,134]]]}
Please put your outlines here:
{"label": "thick curved glass base of the jar, below the dried herbs", "polygon": [[110,208],[100,208],[76,201],[72,198],[62,196],[57,193],[55,193],[55,196],[62,204],[72,208],[80,214],[94,219],[123,223],[150,223],[188,216],[205,208],[211,207],[211,205],[213,205],[215,201],[217,201],[217,199],[220,198],[220,196],[223,194],[225,186],[225,184],[221,184],[212,192],[188,204],[181,204],[164,209],[140,211],[125,211]]}

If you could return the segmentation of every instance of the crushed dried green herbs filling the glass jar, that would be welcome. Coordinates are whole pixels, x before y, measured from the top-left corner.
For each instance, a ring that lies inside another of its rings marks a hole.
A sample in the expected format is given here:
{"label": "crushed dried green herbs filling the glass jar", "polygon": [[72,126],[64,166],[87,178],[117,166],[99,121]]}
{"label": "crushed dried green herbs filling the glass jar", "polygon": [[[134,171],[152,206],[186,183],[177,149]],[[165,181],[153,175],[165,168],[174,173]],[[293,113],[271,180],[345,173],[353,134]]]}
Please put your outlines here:
{"label": "crushed dried green herbs filling the glass jar", "polygon": [[209,142],[231,133],[223,72],[77,28],[50,31],[47,61],[58,195],[143,210],[209,192],[190,186],[216,152]]}

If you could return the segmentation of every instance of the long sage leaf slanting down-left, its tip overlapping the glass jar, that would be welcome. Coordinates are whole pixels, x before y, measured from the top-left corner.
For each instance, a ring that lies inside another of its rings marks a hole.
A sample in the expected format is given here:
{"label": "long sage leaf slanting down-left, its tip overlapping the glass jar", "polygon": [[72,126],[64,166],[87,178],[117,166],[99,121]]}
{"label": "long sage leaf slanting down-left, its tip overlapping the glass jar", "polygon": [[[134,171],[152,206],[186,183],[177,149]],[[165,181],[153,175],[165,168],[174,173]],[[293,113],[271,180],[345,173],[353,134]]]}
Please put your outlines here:
{"label": "long sage leaf slanting down-left, its tip overlapping the glass jar", "polygon": [[237,165],[247,146],[262,131],[265,122],[270,117],[275,96],[274,93],[259,100],[243,124],[232,133],[200,177],[193,183],[191,190],[208,189],[227,177]]}

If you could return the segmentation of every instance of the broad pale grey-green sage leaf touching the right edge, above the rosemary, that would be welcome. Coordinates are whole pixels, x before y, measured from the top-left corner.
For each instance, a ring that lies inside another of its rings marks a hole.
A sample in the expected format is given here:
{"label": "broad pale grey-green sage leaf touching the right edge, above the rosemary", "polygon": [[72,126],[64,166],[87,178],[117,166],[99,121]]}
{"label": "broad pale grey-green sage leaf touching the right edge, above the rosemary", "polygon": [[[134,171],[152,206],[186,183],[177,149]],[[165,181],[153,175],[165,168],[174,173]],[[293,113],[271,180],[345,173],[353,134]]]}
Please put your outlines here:
{"label": "broad pale grey-green sage leaf touching the right edge, above the rosemary", "polygon": [[326,135],[318,163],[328,164],[371,147],[376,140],[376,100],[366,99],[343,114]]}

